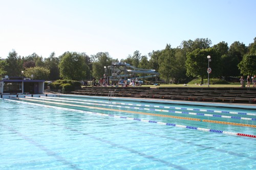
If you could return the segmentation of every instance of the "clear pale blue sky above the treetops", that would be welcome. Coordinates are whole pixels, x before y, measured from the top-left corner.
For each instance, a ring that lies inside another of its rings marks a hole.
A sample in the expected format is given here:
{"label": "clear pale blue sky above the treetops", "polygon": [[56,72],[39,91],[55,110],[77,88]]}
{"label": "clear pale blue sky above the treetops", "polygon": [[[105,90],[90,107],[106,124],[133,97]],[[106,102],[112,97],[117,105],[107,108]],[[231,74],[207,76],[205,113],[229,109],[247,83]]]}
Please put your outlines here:
{"label": "clear pale blue sky above the treetops", "polygon": [[255,0],[0,0],[0,57],[109,52],[125,59],[208,38],[256,37]]}

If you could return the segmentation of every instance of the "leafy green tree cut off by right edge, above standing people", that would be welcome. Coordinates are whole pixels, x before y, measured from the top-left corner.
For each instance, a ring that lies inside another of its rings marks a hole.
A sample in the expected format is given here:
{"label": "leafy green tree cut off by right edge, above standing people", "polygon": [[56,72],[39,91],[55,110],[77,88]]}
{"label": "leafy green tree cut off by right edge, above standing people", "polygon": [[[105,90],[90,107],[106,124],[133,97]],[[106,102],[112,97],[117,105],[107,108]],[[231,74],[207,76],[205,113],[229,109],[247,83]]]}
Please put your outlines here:
{"label": "leafy green tree cut off by right edge, above standing people", "polygon": [[256,75],[256,54],[247,54],[238,64],[242,75]]}

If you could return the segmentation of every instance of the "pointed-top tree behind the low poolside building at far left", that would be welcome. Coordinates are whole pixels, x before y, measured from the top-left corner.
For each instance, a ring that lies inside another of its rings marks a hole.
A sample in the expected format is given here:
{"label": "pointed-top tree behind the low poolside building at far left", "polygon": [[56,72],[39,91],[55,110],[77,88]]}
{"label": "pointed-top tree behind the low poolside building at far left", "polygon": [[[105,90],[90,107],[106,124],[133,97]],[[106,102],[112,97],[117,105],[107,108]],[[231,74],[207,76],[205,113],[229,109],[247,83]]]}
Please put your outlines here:
{"label": "pointed-top tree behind the low poolside building at far left", "polygon": [[6,74],[9,77],[17,77],[22,75],[23,61],[20,56],[12,50],[6,59],[7,65],[5,66]]}

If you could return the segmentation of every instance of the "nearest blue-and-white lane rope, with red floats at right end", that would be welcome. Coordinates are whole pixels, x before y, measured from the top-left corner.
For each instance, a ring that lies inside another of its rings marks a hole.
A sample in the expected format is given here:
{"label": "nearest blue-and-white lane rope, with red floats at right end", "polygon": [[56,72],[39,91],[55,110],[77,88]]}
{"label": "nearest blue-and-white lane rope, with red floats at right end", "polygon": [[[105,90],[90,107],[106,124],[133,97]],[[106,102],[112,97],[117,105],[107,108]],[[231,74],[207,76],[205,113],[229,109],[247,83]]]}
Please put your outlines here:
{"label": "nearest blue-and-white lane rope, with red floats at right end", "polygon": [[[22,98],[20,98],[22,99]],[[5,99],[7,101],[15,101],[15,102],[22,102],[22,103],[27,103],[23,101],[17,101],[17,100],[9,100]],[[22,99],[25,101],[34,101],[30,99]],[[43,102],[43,101],[42,101]],[[51,103],[51,102],[49,102]],[[52,102],[54,103],[54,102]],[[90,114],[96,114],[100,116],[109,116],[109,117],[114,117],[114,118],[121,118],[121,119],[127,119],[127,120],[136,120],[139,122],[145,122],[145,123],[154,123],[154,124],[159,124],[159,125],[166,125],[166,126],[172,126],[172,127],[178,127],[178,128],[186,128],[186,129],[191,129],[191,130],[198,130],[198,131],[203,131],[203,132],[212,132],[212,133],[219,133],[219,134],[225,134],[225,135],[232,135],[232,136],[245,136],[245,137],[251,137],[251,138],[256,138],[256,135],[250,135],[250,134],[244,134],[244,133],[235,133],[235,132],[227,132],[227,131],[222,131],[222,130],[215,130],[215,129],[206,129],[206,128],[198,128],[198,127],[192,127],[192,126],[185,126],[185,125],[177,125],[177,124],[170,124],[170,123],[163,123],[163,122],[156,122],[154,120],[145,120],[145,119],[140,119],[140,118],[132,118],[132,117],[126,117],[126,116],[118,116],[118,115],[113,115],[113,114],[104,114],[104,113],[98,113],[98,112],[91,112],[91,111],[83,111],[83,110],[76,110],[76,109],[68,109],[68,108],[62,108],[62,107],[57,107],[57,106],[46,106],[42,104],[36,104],[36,103],[31,103],[34,105],[38,106],[44,106],[44,107],[49,107],[49,108],[58,108],[58,109],[63,109],[63,110],[68,110],[68,111],[74,111],[74,112],[82,112],[82,113],[90,113]]]}

